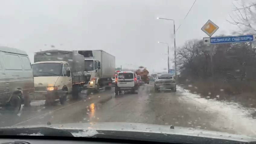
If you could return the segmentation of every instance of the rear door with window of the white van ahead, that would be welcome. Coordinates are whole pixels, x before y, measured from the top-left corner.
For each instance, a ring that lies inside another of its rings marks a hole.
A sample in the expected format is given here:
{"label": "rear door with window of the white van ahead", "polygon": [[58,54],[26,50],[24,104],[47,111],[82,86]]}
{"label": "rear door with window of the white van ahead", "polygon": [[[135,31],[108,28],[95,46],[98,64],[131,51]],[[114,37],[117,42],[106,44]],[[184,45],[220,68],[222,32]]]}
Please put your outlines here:
{"label": "rear door with window of the white van ahead", "polygon": [[134,74],[133,73],[118,73],[117,76],[117,86],[118,87],[133,87]]}

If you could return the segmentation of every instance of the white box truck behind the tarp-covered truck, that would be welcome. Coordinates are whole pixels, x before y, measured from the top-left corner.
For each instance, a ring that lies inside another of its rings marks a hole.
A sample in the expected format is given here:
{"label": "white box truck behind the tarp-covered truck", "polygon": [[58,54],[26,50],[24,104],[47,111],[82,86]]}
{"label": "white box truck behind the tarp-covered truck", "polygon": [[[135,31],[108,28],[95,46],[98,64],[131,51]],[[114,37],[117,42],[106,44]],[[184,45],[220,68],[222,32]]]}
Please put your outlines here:
{"label": "white box truck behind the tarp-covered truck", "polygon": [[115,56],[103,50],[78,50],[84,56],[85,87],[88,92],[98,92],[99,88],[111,89],[112,77],[115,74]]}

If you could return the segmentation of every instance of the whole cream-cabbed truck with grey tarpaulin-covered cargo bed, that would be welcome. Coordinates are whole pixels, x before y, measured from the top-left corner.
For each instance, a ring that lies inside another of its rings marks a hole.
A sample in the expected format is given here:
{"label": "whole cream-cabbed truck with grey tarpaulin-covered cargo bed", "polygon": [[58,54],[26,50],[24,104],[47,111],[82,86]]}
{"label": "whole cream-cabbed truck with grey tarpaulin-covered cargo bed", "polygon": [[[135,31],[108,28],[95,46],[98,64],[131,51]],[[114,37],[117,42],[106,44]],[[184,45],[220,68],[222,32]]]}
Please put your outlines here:
{"label": "whole cream-cabbed truck with grey tarpaulin-covered cargo bed", "polygon": [[36,52],[32,64],[35,93],[45,97],[46,104],[59,99],[64,104],[67,95],[77,99],[82,86],[88,82],[85,76],[84,56],[77,52],[64,50],[46,50]]}

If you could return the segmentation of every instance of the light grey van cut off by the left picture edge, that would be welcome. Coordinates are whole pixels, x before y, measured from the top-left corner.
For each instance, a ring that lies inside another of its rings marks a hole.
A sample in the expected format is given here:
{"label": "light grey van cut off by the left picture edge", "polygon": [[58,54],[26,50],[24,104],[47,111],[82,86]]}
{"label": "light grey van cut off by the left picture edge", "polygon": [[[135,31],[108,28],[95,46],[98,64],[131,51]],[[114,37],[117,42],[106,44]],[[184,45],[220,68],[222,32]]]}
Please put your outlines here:
{"label": "light grey van cut off by the left picture edge", "polygon": [[34,77],[25,51],[0,46],[0,107],[18,114],[21,104],[30,104]]}

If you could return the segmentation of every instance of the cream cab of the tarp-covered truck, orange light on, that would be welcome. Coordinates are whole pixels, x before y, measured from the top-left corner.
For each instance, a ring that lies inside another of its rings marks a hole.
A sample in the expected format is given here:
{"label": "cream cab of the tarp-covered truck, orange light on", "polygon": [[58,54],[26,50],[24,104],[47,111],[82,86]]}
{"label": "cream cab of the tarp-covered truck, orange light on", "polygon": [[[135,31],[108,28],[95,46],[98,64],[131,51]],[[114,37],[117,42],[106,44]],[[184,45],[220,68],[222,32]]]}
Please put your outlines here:
{"label": "cream cab of the tarp-covered truck, orange light on", "polygon": [[63,104],[68,92],[72,92],[72,76],[66,61],[40,61],[32,64],[34,88],[37,99],[46,104],[56,99]]}

